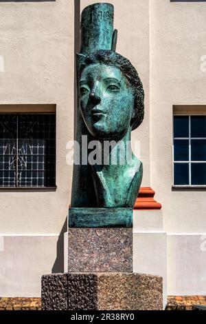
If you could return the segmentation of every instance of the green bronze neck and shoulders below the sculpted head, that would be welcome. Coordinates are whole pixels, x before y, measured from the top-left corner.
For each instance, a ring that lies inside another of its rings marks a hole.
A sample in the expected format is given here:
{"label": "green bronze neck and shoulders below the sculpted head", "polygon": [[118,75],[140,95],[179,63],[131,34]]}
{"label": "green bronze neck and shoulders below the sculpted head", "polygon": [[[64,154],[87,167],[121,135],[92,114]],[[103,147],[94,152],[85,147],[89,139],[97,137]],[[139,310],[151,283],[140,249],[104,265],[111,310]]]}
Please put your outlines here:
{"label": "green bronze neck and shoulders below the sculpted head", "polygon": [[[99,207],[133,207],[141,183],[142,167],[132,153],[130,132],[119,142],[114,141],[110,152],[105,141],[103,143],[104,162],[91,167],[97,204]],[[111,141],[108,144],[111,145]]]}

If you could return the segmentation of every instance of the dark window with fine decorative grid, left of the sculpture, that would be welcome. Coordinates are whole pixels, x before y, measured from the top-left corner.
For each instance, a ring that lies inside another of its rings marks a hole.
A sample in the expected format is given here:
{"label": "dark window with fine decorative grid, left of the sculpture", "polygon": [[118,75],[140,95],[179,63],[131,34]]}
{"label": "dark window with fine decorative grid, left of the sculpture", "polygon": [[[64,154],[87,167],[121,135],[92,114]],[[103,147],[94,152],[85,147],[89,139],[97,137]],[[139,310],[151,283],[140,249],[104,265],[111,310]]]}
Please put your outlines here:
{"label": "dark window with fine decorative grid, left of the sculpture", "polygon": [[56,115],[0,114],[0,187],[54,187]]}

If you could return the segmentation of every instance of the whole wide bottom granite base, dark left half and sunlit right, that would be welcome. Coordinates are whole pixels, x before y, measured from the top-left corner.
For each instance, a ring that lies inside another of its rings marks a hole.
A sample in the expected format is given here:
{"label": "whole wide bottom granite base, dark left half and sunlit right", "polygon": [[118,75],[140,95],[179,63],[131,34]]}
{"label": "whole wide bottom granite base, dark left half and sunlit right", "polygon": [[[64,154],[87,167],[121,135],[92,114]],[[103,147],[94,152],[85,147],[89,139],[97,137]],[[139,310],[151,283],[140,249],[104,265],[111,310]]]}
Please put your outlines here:
{"label": "whole wide bottom granite base, dark left half and sunlit right", "polygon": [[162,278],[150,274],[67,273],[42,277],[43,310],[162,310]]}

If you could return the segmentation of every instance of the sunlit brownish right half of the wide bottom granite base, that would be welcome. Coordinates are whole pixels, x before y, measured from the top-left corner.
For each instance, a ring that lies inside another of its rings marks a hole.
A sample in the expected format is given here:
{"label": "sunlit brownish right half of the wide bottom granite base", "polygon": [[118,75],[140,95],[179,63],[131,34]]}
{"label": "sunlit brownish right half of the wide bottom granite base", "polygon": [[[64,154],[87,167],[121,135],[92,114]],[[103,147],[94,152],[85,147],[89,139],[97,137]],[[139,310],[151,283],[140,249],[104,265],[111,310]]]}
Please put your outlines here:
{"label": "sunlit brownish right half of the wide bottom granite base", "polygon": [[162,310],[162,278],[150,274],[100,274],[98,310]]}

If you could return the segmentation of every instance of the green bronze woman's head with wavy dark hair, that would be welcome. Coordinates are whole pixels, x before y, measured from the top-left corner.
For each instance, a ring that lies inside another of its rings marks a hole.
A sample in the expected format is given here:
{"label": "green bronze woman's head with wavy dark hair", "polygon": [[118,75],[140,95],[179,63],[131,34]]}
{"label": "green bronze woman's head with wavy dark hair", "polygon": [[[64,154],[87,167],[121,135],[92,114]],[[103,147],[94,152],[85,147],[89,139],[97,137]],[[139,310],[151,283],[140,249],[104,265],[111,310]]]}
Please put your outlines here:
{"label": "green bronze woman's head with wavy dark hair", "polygon": [[116,52],[80,55],[80,110],[98,139],[120,140],[144,119],[144,90],[133,65]]}

